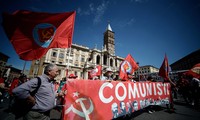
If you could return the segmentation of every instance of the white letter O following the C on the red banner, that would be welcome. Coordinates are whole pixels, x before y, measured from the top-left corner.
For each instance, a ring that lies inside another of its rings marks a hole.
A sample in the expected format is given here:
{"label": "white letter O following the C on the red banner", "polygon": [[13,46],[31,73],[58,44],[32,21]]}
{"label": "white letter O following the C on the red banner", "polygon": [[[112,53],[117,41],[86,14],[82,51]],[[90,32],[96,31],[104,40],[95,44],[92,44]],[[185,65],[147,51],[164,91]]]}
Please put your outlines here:
{"label": "white letter O following the C on the red banner", "polygon": [[[123,88],[123,92],[124,92],[124,94],[123,94],[123,96],[119,96],[119,87],[122,87]],[[118,83],[117,85],[116,85],[116,88],[115,88],[115,95],[116,95],[116,97],[117,97],[117,99],[119,100],[119,101],[123,101],[125,98],[126,98],[126,96],[127,96],[127,90],[126,90],[126,86],[123,84],[123,83]]]}

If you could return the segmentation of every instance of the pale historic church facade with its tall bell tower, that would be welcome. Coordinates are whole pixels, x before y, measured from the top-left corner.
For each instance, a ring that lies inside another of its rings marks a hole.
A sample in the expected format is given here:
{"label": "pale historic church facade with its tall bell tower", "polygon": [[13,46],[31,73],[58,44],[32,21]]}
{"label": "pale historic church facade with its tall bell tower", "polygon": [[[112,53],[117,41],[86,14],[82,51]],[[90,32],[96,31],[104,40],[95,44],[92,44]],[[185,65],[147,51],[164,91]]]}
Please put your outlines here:
{"label": "pale historic church facade with its tall bell tower", "polygon": [[68,49],[50,49],[41,59],[32,61],[29,77],[43,74],[44,67],[49,63],[58,65],[60,74],[57,79],[66,76],[66,69],[68,74],[73,73],[79,79],[88,79],[88,71],[96,65],[101,65],[103,70],[110,67],[114,76],[117,76],[120,63],[124,58],[115,55],[115,38],[110,24],[104,32],[103,46],[101,50],[89,49],[77,44],[72,44],[71,48]]}

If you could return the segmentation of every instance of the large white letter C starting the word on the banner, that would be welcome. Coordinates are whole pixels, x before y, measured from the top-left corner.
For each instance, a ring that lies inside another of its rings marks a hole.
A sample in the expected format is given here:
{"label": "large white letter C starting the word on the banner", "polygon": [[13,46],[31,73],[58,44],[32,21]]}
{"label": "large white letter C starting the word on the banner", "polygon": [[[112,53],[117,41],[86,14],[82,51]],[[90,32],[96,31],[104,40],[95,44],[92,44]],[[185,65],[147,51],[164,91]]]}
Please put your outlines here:
{"label": "large white letter C starting the word on the banner", "polygon": [[103,95],[103,90],[105,87],[113,88],[113,84],[111,83],[103,83],[103,85],[99,89],[99,98],[103,103],[110,103],[113,100],[113,96],[110,96],[109,98],[105,98]]}

